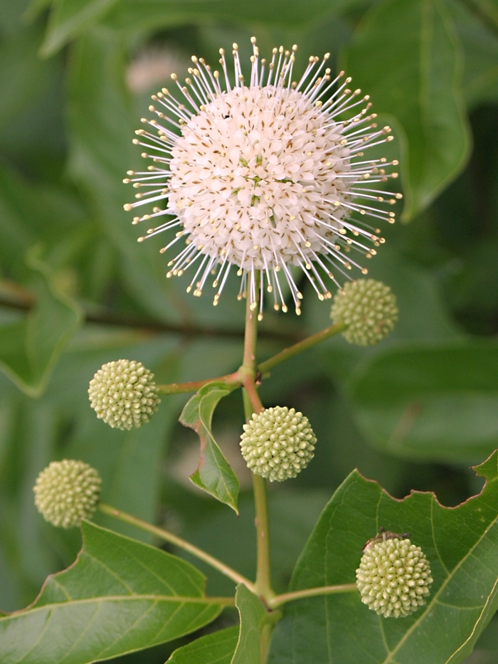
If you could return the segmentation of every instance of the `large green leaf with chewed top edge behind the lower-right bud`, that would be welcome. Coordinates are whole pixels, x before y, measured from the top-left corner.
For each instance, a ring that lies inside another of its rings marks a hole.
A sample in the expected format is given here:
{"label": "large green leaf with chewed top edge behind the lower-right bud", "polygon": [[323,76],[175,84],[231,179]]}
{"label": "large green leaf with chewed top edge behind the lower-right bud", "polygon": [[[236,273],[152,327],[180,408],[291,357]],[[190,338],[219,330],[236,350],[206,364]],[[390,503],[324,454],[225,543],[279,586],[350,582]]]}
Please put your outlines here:
{"label": "large green leaf with chewed top edge behind the lower-right bud", "polygon": [[291,590],[351,584],[361,547],[381,526],[410,532],[434,579],[426,606],[383,618],[356,592],[293,601],[275,630],[270,664],[457,664],[498,608],[498,453],[475,470],[487,477],[458,507],[432,493],[391,498],[355,470],[335,492],[297,562]]}

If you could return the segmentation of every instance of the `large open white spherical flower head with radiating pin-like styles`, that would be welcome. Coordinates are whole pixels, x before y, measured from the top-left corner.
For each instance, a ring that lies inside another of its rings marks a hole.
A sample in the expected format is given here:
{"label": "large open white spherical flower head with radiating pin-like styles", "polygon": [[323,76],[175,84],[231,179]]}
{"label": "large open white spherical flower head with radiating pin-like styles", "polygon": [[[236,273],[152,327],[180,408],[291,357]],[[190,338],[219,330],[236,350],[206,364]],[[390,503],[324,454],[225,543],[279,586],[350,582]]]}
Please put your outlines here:
{"label": "large open white spherical flower head with radiating pin-like styles", "polygon": [[[393,137],[369,114],[369,97],[349,88],[351,78],[344,72],[332,76],[329,53],[321,62],[309,58],[294,81],[296,46],[273,49],[267,63],[255,38],[251,41],[248,82],[234,44],[235,81],[221,49],[221,74],[194,56],[186,85],[171,77],[179,88],[176,96],[166,88],[153,95],[158,107],[149,110],[159,120],[142,122],[158,135],[138,130],[134,142],[147,149],[142,156],[154,165],[148,172],[128,172],[124,181],[140,191],[124,209],[156,204],[152,212],[134,217],[134,223],[159,222],[139,241],[179,228],[161,249],[184,238],[166,276],[189,270],[187,290],[194,295],[201,295],[212,274],[216,305],[235,266],[242,277],[239,297],[250,297],[253,309],[259,301],[259,317],[264,286],[275,309],[287,311],[282,278],[300,313],[302,295],[291,265],[302,268],[323,300],[331,297],[327,281],[339,285],[339,274],[347,276],[352,268],[366,273],[351,255],[371,258],[383,243],[378,220],[394,221],[385,206],[401,194],[381,187],[397,176],[385,170],[397,162],[369,159],[365,151]],[[359,220],[351,220],[351,214]]]}

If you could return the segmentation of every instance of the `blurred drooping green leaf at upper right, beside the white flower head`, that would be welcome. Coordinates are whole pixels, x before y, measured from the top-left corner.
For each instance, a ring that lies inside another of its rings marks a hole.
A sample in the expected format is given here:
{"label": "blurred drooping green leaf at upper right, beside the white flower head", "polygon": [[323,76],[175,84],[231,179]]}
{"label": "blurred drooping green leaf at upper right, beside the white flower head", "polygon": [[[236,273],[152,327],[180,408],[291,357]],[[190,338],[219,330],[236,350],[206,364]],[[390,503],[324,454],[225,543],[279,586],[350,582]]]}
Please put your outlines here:
{"label": "blurred drooping green leaf at upper right, beside the white flower head", "polygon": [[344,69],[371,95],[373,110],[392,115],[401,126],[408,219],[457,176],[469,155],[462,55],[443,2],[374,4],[346,53]]}

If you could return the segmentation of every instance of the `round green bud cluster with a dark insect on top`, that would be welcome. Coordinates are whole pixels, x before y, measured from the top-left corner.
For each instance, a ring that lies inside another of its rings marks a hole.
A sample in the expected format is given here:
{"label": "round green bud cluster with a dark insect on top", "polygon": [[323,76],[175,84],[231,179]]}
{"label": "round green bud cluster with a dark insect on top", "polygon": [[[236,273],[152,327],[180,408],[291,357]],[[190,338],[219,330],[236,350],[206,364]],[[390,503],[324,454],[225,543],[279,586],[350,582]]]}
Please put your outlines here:
{"label": "round green bud cluster with a dark insect on top", "polygon": [[376,539],[356,570],[361,601],[385,618],[408,616],[423,606],[432,582],[425,554],[409,539]]}

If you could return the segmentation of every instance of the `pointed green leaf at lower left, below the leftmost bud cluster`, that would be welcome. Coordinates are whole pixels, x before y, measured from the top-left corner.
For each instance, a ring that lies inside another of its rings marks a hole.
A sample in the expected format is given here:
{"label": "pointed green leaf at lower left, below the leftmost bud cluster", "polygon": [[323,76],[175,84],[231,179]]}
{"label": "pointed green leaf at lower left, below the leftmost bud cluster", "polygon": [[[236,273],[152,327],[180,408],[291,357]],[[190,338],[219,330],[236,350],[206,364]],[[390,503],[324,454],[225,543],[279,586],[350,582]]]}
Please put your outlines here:
{"label": "pointed green leaf at lower left, below the leftmost bud cluster", "polygon": [[190,564],[88,522],[77,562],[49,576],[26,611],[0,619],[4,664],[85,664],[164,643],[221,605]]}

